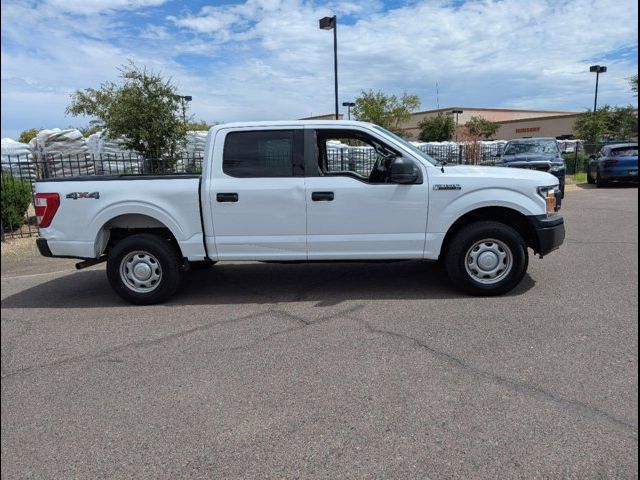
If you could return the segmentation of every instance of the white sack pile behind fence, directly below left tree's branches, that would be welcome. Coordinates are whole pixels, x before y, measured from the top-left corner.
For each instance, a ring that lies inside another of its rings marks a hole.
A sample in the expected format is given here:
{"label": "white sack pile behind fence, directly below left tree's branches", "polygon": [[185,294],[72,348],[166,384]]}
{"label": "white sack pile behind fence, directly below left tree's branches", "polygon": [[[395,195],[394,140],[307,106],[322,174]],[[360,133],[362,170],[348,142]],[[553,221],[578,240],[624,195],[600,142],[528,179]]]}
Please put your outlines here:
{"label": "white sack pile behind fence, directly below left tree's branches", "polygon": [[108,138],[104,132],[87,137],[87,149],[99,175],[142,173],[142,158],[127,149],[122,138]]}

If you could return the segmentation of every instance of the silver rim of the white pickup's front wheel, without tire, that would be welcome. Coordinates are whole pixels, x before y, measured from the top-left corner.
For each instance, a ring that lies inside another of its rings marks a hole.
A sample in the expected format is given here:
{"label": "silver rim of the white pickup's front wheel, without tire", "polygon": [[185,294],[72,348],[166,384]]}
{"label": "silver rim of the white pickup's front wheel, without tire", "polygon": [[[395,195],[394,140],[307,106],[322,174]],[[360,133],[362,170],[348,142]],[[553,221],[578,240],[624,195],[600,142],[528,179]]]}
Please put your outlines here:
{"label": "silver rim of the white pickup's front wheel, without tire", "polygon": [[474,281],[494,285],[511,272],[513,253],[504,242],[487,238],[471,246],[464,263],[467,273]]}

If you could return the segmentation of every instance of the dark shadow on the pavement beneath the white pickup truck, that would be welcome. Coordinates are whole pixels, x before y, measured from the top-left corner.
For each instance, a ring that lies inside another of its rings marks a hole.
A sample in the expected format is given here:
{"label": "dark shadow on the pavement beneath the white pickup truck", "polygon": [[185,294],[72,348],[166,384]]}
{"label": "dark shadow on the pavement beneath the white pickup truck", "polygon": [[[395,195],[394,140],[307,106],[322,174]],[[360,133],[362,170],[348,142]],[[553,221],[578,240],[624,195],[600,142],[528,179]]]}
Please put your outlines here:
{"label": "dark shadow on the pavement beneath the white pickup truck", "polygon": [[[527,274],[508,296],[535,285]],[[438,264],[372,263],[232,264],[190,271],[165,306],[315,302],[326,307],[350,300],[468,298]],[[104,269],[85,270],[10,295],[2,308],[104,308],[129,305],[109,286]]]}

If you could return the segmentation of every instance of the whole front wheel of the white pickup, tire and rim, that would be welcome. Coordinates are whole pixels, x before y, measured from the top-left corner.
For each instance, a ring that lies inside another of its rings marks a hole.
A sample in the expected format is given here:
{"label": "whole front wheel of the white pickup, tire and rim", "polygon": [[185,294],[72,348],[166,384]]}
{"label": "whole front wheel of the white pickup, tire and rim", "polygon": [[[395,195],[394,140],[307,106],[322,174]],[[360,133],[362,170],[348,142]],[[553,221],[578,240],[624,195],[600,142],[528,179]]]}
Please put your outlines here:
{"label": "whole front wheel of the white pickup, tire and rim", "polygon": [[520,234],[499,222],[463,227],[451,239],[445,257],[453,284],[472,295],[501,295],[520,283],[529,252]]}

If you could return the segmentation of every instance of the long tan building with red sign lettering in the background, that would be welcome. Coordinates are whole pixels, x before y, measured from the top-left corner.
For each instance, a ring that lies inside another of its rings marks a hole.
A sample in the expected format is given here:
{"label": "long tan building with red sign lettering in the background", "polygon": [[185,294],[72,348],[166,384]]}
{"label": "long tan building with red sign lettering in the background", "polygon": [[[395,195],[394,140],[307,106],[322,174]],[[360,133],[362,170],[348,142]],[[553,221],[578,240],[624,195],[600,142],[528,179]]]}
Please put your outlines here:
{"label": "long tan building with red sign lettering in the background", "polygon": [[438,114],[451,115],[451,111],[462,110],[458,114],[458,125],[464,125],[471,117],[482,117],[500,124],[496,140],[511,140],[522,137],[567,138],[574,135],[574,123],[578,112],[550,110],[513,110],[506,108],[449,107],[437,110],[416,112],[411,120],[402,125],[411,140],[417,140],[420,129],[418,124],[427,117]]}

